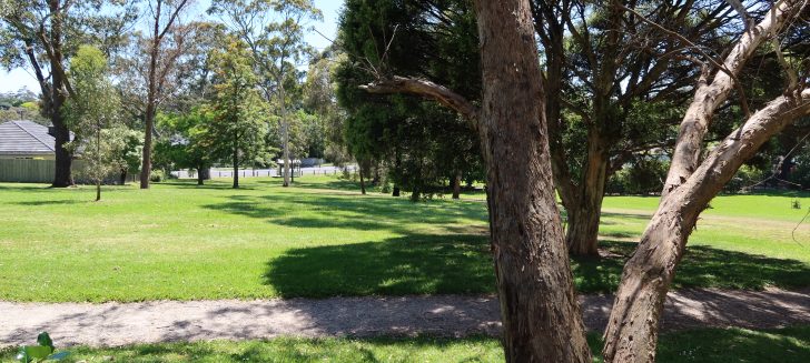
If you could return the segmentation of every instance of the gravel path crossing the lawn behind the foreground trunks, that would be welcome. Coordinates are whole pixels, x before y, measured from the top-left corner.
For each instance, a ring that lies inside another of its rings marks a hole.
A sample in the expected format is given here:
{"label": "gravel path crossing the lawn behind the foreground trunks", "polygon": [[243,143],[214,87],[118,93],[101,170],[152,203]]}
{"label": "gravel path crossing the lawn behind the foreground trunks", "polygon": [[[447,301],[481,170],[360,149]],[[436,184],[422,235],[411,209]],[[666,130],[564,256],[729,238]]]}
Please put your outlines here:
{"label": "gravel path crossing the lawn behind the foreground trunks", "polygon": [[[613,300],[582,298],[589,329],[601,331]],[[670,293],[662,327],[780,327],[810,324],[810,289]],[[48,331],[60,345],[267,339],[276,335],[463,336],[500,332],[494,296],[333,298],[326,300],[156,301],[145,303],[0,302],[0,347]]]}

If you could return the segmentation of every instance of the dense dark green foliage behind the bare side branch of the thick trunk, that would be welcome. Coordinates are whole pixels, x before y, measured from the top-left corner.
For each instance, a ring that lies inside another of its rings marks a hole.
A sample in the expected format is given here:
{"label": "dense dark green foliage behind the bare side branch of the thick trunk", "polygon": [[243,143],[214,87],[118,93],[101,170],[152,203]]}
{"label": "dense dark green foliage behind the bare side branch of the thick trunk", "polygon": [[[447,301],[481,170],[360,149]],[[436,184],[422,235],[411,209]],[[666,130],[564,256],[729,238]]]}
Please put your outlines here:
{"label": "dense dark green foliage behind the bare side branch of the thick trunk", "polygon": [[[433,14],[442,13],[438,19]],[[336,72],[347,111],[344,140],[356,159],[375,161],[386,180],[432,194],[461,172],[480,180],[477,135],[465,120],[429,101],[373,95],[358,85],[391,74],[427,75],[471,100],[480,98],[478,44],[468,1],[347,1],[340,18],[346,52]]]}

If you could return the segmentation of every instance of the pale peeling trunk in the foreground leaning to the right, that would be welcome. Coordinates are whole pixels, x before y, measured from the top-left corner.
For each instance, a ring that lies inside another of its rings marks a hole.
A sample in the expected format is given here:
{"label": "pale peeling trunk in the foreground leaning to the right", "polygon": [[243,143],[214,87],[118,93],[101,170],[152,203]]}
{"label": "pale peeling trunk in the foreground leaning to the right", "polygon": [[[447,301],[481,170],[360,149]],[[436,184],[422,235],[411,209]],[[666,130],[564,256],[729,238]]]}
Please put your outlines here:
{"label": "pale peeling trunk in the foreground leaning to the right", "polygon": [[729,134],[688,180],[664,196],[624,265],[605,331],[606,362],[654,362],[664,299],[689,234],[742,163],[786,125],[810,114],[810,90],[780,97]]}

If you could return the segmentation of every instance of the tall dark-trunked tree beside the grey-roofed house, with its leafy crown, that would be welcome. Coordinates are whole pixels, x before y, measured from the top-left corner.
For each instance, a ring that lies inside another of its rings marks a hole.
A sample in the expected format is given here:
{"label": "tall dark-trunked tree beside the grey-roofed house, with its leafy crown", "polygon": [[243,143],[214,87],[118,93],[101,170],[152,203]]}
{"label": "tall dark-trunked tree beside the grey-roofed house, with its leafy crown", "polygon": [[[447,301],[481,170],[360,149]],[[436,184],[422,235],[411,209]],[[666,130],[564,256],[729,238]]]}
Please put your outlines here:
{"label": "tall dark-trunked tree beside the grey-roofed house, with its leafy crown", "polygon": [[98,44],[108,54],[113,52],[135,19],[131,10],[129,1],[0,1],[0,40],[8,46],[0,49],[0,63],[9,69],[24,67],[32,71],[42,93],[43,111],[53,125],[52,186],[73,184],[73,155],[66,149],[70,130],[61,112],[73,94],[67,64],[82,43]]}

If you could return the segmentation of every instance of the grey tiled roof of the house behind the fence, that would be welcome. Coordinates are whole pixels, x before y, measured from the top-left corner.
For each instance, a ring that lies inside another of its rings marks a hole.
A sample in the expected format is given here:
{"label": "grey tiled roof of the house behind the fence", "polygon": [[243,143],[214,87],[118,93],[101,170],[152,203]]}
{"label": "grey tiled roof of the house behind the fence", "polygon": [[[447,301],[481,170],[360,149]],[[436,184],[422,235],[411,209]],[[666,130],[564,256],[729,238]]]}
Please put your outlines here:
{"label": "grey tiled roof of the house behind the fence", "polygon": [[0,124],[0,154],[53,154],[55,144],[48,128],[33,121]]}

